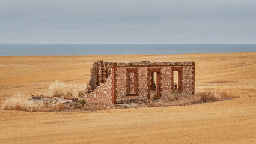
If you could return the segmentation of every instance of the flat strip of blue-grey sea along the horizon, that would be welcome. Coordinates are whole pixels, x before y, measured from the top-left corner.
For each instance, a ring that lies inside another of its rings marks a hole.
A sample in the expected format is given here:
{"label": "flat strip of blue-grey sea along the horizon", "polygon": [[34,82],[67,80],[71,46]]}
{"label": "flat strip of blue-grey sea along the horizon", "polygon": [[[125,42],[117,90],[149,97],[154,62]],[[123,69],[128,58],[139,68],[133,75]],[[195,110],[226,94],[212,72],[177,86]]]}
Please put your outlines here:
{"label": "flat strip of blue-grey sea along the horizon", "polygon": [[256,44],[0,44],[0,56],[256,52]]}

